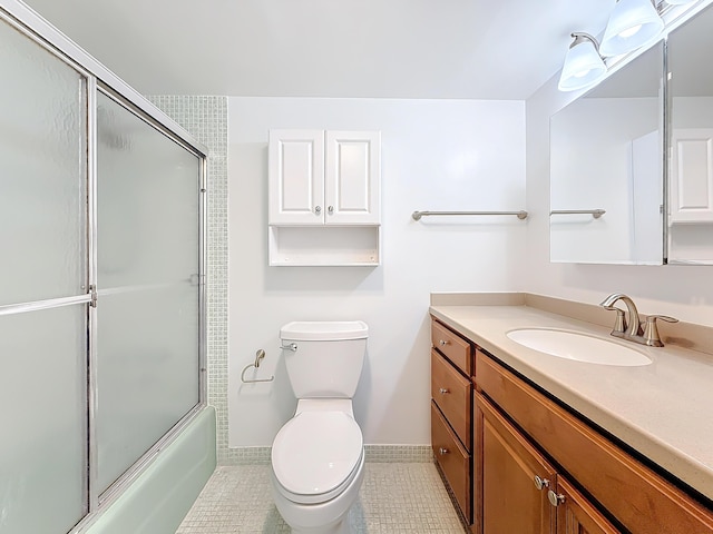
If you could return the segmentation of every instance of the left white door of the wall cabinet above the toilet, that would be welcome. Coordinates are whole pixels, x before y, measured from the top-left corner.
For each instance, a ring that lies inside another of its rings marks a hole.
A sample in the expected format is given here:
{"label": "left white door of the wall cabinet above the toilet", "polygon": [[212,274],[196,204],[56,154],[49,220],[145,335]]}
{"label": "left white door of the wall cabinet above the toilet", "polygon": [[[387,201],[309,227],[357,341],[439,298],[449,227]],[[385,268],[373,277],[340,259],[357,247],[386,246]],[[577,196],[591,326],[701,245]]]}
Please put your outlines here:
{"label": "left white door of the wall cabinet above the toilet", "polygon": [[324,225],[324,131],[270,130],[268,224]]}

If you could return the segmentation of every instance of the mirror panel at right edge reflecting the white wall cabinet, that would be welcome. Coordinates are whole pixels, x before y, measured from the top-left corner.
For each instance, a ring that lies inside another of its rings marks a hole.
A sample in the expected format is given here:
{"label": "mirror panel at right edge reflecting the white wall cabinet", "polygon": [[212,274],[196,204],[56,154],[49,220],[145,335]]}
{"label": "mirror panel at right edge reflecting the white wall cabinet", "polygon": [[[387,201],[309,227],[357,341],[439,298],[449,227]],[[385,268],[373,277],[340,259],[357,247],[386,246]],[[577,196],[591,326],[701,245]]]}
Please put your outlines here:
{"label": "mirror panel at right edge reflecting the white wall cabinet", "polygon": [[668,37],[670,264],[713,265],[713,8]]}

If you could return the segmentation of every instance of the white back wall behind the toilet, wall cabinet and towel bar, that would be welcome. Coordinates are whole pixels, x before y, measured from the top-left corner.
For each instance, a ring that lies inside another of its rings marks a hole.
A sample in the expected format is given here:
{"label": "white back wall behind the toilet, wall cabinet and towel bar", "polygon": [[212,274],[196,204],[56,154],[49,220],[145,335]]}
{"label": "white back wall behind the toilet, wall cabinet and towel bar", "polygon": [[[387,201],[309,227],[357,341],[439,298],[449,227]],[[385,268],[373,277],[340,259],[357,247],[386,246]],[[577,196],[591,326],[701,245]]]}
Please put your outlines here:
{"label": "white back wall behind the toilet, wall cabinet and towel bar", "polygon": [[[520,289],[528,221],[411,212],[524,209],[524,102],[231,98],[228,109],[229,445],[267,446],[292,415],[279,332],[310,319],[370,326],[354,399],[365,443],[430,443],[429,294]],[[381,130],[380,267],[267,267],[271,128]],[[258,348],[275,380],[241,385]]]}

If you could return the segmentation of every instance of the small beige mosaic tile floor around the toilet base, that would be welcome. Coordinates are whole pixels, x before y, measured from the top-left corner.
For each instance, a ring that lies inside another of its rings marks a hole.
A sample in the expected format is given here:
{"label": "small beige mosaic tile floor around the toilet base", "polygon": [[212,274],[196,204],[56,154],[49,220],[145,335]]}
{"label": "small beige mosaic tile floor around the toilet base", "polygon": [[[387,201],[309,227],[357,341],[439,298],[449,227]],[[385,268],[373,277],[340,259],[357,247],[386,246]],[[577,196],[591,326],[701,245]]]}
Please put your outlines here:
{"label": "small beige mosaic tile floor around the toilet base", "polygon": [[[463,534],[433,464],[367,463],[359,500],[349,514],[358,534]],[[270,465],[219,466],[176,534],[280,534],[270,493]]]}

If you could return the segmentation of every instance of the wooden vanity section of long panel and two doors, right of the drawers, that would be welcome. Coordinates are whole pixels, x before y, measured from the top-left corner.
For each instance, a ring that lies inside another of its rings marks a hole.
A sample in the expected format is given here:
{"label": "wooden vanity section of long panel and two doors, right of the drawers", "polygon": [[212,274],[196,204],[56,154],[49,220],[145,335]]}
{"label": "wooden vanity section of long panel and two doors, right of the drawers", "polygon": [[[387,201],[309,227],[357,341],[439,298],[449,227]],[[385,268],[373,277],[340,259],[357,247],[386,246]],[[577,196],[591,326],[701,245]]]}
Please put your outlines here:
{"label": "wooden vanity section of long panel and two doors, right of the drawers", "polygon": [[[711,510],[629,452],[485,353],[475,365],[473,533],[713,533]],[[541,495],[535,475],[548,481]]]}

